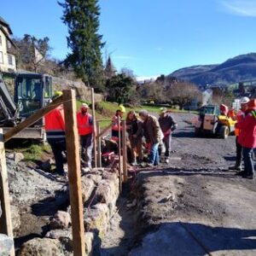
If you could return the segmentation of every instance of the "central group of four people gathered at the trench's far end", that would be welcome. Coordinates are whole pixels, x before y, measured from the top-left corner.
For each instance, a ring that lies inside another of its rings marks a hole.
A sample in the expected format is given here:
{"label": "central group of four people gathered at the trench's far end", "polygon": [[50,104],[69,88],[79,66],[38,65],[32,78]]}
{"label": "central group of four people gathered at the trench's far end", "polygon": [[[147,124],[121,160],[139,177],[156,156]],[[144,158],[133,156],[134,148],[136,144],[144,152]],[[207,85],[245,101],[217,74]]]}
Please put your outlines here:
{"label": "central group of four people gathered at the trench's far end", "polygon": [[[124,117],[125,107],[119,106],[113,116],[112,140],[119,141],[120,120]],[[160,118],[142,110],[136,113],[131,110],[126,116],[126,131],[131,147],[131,166],[137,166],[143,162],[143,145],[147,148],[149,157],[147,166],[158,166],[160,155],[164,154],[164,161],[169,162],[171,152],[172,131],[177,128],[177,122],[166,108],[161,108]],[[144,137],[144,139],[143,139]]]}

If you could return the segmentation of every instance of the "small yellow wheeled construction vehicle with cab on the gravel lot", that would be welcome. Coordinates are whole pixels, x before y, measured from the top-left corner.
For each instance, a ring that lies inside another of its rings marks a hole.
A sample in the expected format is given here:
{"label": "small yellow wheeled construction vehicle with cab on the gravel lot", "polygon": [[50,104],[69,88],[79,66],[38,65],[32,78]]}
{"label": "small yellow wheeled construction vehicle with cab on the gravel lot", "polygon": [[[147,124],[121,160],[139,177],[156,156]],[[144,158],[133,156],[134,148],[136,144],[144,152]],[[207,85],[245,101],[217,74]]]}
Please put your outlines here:
{"label": "small yellow wheeled construction vehicle with cab on the gravel lot", "polygon": [[195,136],[212,134],[216,137],[227,138],[235,131],[236,120],[228,116],[224,105],[207,105],[200,108],[199,117],[195,122]]}

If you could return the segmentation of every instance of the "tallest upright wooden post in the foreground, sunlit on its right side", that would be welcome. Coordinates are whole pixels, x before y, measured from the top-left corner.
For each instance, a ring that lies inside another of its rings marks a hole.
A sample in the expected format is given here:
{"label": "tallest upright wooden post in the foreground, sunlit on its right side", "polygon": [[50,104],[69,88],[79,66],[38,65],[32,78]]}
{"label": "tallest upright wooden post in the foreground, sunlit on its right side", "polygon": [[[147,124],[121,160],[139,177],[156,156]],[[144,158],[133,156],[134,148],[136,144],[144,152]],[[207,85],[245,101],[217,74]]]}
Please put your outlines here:
{"label": "tallest upright wooden post in the foreground, sunlit on its right side", "polygon": [[79,156],[79,133],[76,119],[76,99],[74,90],[63,90],[64,113],[66,120],[66,143],[69,197],[73,230],[73,255],[84,256],[84,213],[81,189]]}

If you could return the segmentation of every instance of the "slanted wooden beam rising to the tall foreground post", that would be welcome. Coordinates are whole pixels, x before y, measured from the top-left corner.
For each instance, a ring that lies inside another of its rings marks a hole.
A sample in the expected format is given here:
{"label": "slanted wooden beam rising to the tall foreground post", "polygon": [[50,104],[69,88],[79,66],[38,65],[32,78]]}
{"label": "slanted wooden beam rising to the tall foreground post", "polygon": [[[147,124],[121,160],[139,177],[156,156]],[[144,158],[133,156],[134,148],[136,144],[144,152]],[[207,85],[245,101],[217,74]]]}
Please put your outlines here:
{"label": "slanted wooden beam rising to the tall foreground post", "polygon": [[57,108],[59,105],[63,103],[62,96],[56,98],[54,101],[50,102],[49,105],[47,105],[44,108],[38,109],[37,112],[33,113],[29,118],[21,122],[19,125],[15,126],[13,129],[10,129],[4,134],[4,143],[9,141],[11,137],[14,137],[17,133],[25,129],[26,127],[34,124],[39,119],[42,119],[42,117],[49,113],[52,109]]}

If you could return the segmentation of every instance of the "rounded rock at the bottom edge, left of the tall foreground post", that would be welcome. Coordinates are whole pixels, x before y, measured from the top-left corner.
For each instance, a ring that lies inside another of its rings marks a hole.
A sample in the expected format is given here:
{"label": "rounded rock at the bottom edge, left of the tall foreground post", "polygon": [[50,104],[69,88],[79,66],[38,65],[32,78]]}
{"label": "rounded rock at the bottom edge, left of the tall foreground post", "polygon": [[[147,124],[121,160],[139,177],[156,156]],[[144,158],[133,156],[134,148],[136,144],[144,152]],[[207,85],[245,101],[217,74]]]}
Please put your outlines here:
{"label": "rounded rock at the bottom edge, left of the tall foreground post", "polygon": [[34,238],[20,248],[19,256],[64,256],[61,242],[56,239]]}

